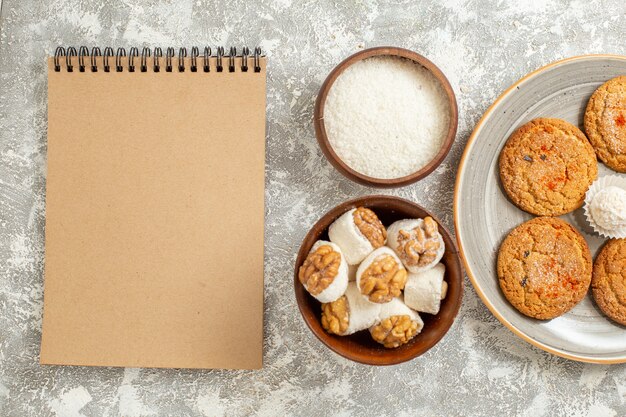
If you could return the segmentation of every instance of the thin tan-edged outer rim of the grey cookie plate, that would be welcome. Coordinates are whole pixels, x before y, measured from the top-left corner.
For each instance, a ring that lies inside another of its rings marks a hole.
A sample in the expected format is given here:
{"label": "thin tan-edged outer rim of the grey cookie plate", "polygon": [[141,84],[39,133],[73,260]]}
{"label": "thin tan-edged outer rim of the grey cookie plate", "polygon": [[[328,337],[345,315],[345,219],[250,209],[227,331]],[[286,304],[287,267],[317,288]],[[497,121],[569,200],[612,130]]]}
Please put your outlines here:
{"label": "thin tan-edged outer rim of the grey cookie plate", "polygon": [[508,97],[513,91],[515,91],[518,86],[520,86],[524,82],[528,81],[529,79],[534,78],[534,77],[540,75],[541,73],[547,71],[548,69],[551,69],[551,68],[554,68],[556,66],[563,65],[565,63],[572,62],[572,61],[584,61],[584,60],[589,60],[589,59],[595,60],[595,59],[603,59],[603,58],[620,59],[620,60],[626,61],[626,56],[624,56],[624,55],[617,55],[617,54],[586,54],[586,55],[576,55],[576,56],[573,56],[573,57],[559,59],[557,61],[550,62],[549,64],[543,65],[543,66],[537,68],[536,70],[527,73],[522,78],[520,78],[519,80],[517,80],[516,82],[511,84],[509,87],[507,87],[498,96],[498,98],[487,108],[487,110],[485,110],[485,112],[481,116],[481,118],[478,121],[478,123],[476,123],[476,125],[474,126],[474,129],[472,130],[472,134],[470,135],[470,137],[467,140],[467,143],[465,145],[465,148],[463,149],[463,154],[461,155],[461,160],[459,161],[457,174],[456,174],[456,179],[455,179],[455,182],[454,182],[453,220],[454,220],[454,229],[455,229],[455,237],[456,237],[457,247],[459,249],[459,255],[461,257],[461,261],[463,262],[463,266],[465,267],[465,272],[467,273],[467,276],[468,276],[470,282],[472,283],[472,287],[474,287],[474,290],[476,291],[476,293],[480,297],[480,299],[483,302],[483,304],[485,306],[487,306],[489,311],[491,311],[491,314],[493,314],[498,319],[498,321],[500,321],[500,323],[504,324],[505,327],[507,327],[511,332],[513,332],[513,334],[517,335],[522,340],[524,340],[524,341],[530,343],[531,345],[533,345],[535,347],[538,347],[539,349],[542,349],[542,350],[544,350],[544,351],[546,351],[548,353],[552,353],[553,355],[557,355],[557,356],[560,356],[562,358],[566,358],[566,359],[570,359],[570,360],[574,360],[574,361],[578,361],[578,362],[598,363],[598,364],[617,364],[617,363],[625,363],[626,362],[626,354],[624,354],[622,356],[619,356],[619,357],[606,358],[606,359],[605,358],[590,357],[590,356],[587,356],[587,355],[584,355],[584,354],[574,354],[574,353],[571,353],[569,351],[564,351],[562,349],[555,348],[553,346],[549,346],[549,345],[547,345],[545,343],[539,342],[538,340],[533,339],[531,336],[525,334],[524,332],[522,332],[521,330],[516,328],[511,322],[509,322],[497,310],[497,308],[493,304],[491,304],[491,302],[489,301],[489,299],[487,298],[485,293],[482,291],[482,289],[480,287],[480,284],[476,280],[476,278],[475,278],[475,276],[474,276],[474,274],[472,272],[472,269],[471,269],[471,267],[470,267],[470,265],[469,265],[469,263],[468,263],[468,261],[467,261],[467,259],[465,257],[465,250],[464,250],[463,244],[461,242],[461,228],[459,227],[459,224],[460,224],[460,221],[459,221],[459,202],[460,202],[459,190],[460,190],[461,179],[462,179],[462,177],[465,174],[465,168],[466,168],[465,164],[466,164],[466,161],[467,161],[467,157],[468,157],[469,152],[470,152],[470,150],[472,148],[472,145],[474,144],[474,141],[476,140],[476,137],[478,136],[478,134],[482,130],[483,124],[491,116],[491,114],[493,113],[495,108],[498,106],[498,104],[504,98]]}

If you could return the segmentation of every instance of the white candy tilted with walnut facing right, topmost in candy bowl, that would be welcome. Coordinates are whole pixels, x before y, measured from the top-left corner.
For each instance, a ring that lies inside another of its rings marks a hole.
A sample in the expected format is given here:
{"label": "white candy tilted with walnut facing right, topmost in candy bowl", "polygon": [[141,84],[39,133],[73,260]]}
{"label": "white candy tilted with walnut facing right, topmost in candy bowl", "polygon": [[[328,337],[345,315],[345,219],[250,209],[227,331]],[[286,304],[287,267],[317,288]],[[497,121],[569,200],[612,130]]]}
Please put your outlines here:
{"label": "white candy tilted with walnut facing right, topmost in candy bowl", "polygon": [[328,237],[339,245],[346,261],[356,265],[385,244],[387,231],[372,210],[357,207],[345,212],[330,225]]}

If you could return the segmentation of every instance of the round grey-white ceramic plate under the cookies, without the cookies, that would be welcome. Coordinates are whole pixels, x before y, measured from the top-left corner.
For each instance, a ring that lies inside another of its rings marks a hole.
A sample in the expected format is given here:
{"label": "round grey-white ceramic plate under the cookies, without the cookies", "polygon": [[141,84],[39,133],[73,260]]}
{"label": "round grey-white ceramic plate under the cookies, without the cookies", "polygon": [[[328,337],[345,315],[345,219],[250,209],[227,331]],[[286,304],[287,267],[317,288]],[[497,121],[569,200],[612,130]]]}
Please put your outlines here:
{"label": "round grey-white ceramic plate under the cookies, without the cookies", "polygon": [[[549,321],[528,318],[500,292],[496,257],[500,243],[533,216],[511,203],[501,188],[498,156],[509,135],[536,117],[556,117],[583,129],[591,94],[605,81],[626,75],[626,57],[589,55],[547,65],[506,90],[487,110],[470,137],[457,174],[454,222],[467,274],[478,295],[509,329],[533,345],[566,358],[626,362],[626,327],[606,319],[591,295],[567,314]],[[615,174],[599,163],[599,176]],[[562,216],[577,227],[595,255],[604,239],[591,233],[583,210]]]}

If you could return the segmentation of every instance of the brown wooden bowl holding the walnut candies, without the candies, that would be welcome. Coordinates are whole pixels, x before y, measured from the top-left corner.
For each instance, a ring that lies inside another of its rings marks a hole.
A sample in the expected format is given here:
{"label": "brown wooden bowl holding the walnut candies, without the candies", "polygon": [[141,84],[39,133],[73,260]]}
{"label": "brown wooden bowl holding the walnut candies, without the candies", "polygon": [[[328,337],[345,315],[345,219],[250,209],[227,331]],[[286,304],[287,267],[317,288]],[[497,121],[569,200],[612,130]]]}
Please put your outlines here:
{"label": "brown wooden bowl holding the walnut candies, without the candies", "polygon": [[[448,283],[448,294],[441,302],[439,314],[433,316],[420,313],[424,320],[424,329],[406,345],[387,349],[376,343],[364,330],[350,336],[336,336],[327,333],[320,321],[321,304],[309,293],[298,280],[298,270],[306,259],[313,244],[319,240],[328,240],[328,227],[346,211],[355,207],[368,207],[373,210],[385,226],[396,220],[431,216],[439,224],[439,231],[446,244],[446,251],[441,262],[446,265],[445,280]],[[296,301],[305,323],[317,338],[335,353],[344,358],[368,365],[394,365],[422,355],[448,332],[463,297],[463,267],[459,258],[454,239],[442,226],[437,217],[423,207],[399,197],[374,195],[346,201],[326,213],[307,233],[296,259],[294,271],[294,289]]]}

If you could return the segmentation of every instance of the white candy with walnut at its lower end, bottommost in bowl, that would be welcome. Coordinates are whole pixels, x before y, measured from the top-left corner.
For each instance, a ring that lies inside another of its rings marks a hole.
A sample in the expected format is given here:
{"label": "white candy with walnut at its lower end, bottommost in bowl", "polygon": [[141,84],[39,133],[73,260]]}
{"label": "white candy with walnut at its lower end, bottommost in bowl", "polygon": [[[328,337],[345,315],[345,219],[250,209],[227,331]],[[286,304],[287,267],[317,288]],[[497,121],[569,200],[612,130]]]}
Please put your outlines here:
{"label": "white candy with walnut at its lower end, bottommost in bowl", "polygon": [[372,338],[386,348],[396,348],[417,336],[424,322],[401,298],[381,305],[379,322],[370,327]]}

